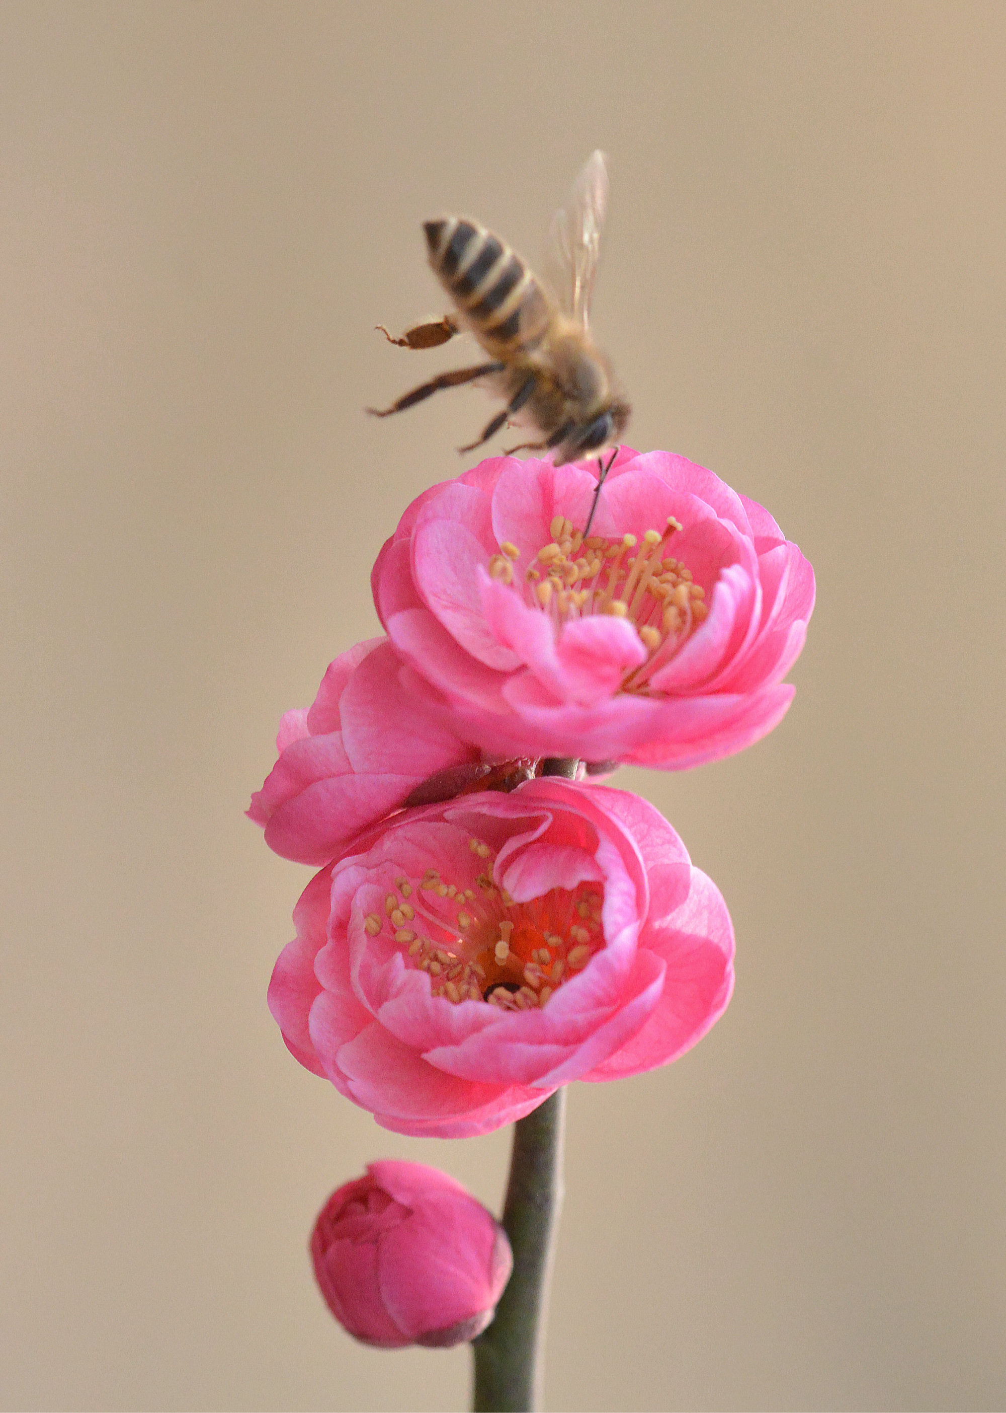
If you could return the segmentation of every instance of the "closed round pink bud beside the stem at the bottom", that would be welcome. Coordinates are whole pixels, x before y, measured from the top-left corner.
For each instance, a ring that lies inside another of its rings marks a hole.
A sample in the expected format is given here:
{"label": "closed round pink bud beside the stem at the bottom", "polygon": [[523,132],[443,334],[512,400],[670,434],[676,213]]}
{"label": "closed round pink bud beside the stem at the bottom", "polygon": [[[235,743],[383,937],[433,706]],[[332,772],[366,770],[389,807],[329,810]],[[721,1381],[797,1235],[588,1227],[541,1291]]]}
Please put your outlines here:
{"label": "closed round pink bud beside the stem at the bottom", "polygon": [[336,1320],[385,1349],[474,1340],[514,1266],[507,1232],[460,1183],[392,1159],[332,1194],[310,1258]]}

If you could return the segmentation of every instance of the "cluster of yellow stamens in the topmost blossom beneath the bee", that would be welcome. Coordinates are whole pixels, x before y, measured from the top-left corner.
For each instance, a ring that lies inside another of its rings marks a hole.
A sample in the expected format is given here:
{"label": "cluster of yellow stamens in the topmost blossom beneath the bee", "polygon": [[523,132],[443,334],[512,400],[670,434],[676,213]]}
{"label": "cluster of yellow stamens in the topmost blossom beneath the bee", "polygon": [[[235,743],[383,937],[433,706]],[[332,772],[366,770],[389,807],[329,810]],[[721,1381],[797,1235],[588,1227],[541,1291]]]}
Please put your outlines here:
{"label": "cluster of yellow stamens in the topmost blossom beneath the bee", "polygon": [[666,552],[680,528],[669,516],[665,528],[648,530],[639,545],[632,534],[584,540],[570,520],[556,516],[549,526],[550,543],[523,574],[516,567],[521,551],[509,541],[490,560],[490,574],[522,586],[525,602],[547,613],[557,630],[594,613],[628,619],[648,657],[625,675],[622,691],[646,691],[655,667],[669,661],[708,613],[705,589],[683,561]]}

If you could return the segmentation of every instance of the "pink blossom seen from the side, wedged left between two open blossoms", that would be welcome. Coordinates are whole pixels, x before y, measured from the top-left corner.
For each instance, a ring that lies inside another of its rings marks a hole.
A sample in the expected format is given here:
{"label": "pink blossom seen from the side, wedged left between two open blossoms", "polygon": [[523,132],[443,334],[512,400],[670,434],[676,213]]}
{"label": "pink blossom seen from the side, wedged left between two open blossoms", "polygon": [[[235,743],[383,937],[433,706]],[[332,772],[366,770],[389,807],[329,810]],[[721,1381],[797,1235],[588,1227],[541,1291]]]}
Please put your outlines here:
{"label": "pink blossom seen from the side, wedged left between two open blossoms", "polygon": [[358,643],[329,666],[312,706],[284,716],[279,759],[248,810],[277,853],[325,863],[429,776],[478,760],[412,699],[399,668],[387,639]]}

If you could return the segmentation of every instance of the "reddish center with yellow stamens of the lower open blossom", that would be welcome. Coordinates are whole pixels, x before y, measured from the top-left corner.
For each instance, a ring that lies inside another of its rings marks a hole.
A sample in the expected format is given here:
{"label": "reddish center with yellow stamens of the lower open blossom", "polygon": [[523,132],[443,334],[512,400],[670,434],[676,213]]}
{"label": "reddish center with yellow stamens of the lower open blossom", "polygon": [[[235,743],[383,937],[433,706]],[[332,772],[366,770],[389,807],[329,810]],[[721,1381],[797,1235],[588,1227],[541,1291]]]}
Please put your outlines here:
{"label": "reddish center with yellow stamens of the lower open blossom", "polygon": [[371,937],[391,934],[408,965],[425,971],[435,996],[483,1000],[502,1010],[545,1006],[604,947],[597,883],[552,889],[528,903],[492,882],[495,851],[468,841],[471,868],[446,882],[436,869],[401,876],[368,913]]}

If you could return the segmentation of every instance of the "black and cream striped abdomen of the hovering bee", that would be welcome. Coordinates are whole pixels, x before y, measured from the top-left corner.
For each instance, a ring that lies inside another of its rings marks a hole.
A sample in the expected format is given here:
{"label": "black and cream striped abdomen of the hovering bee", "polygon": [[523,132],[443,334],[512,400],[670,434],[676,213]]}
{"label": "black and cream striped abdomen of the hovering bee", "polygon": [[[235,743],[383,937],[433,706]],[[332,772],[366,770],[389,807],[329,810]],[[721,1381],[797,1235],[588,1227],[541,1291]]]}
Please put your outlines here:
{"label": "black and cream striped abdomen of the hovering bee", "polygon": [[428,220],[430,266],[483,345],[514,355],[542,342],[552,311],[523,260],[474,220]]}

